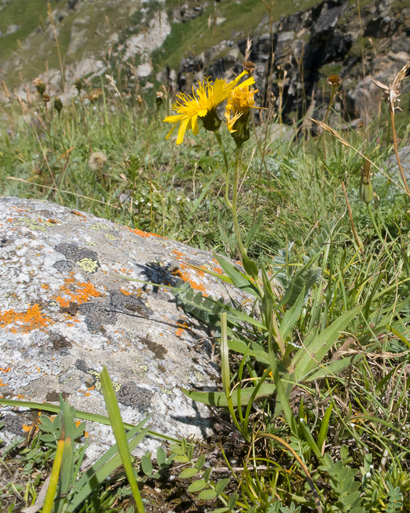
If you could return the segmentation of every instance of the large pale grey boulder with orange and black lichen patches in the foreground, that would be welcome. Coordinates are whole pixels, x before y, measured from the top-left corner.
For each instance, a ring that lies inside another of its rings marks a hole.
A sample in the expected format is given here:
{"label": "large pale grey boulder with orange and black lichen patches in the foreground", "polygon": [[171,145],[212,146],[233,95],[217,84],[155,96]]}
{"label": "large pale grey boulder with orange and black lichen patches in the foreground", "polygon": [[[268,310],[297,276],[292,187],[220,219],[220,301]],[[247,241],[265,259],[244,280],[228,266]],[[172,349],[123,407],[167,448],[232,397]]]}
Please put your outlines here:
{"label": "large pale grey boulder with orange and black lichen patches in the foreground", "polygon": [[[61,393],[78,410],[107,415],[99,382],[106,365],[125,422],[150,412],[153,430],[203,436],[208,409],[180,388],[215,388],[210,336],[166,285],[182,279],[227,299],[228,291],[188,264],[221,272],[211,253],[158,235],[0,198],[0,396],[58,403]],[[6,432],[24,435],[12,411],[2,408]],[[87,423],[87,431],[90,462],[114,439],[104,425]],[[145,440],[142,452],[155,444]]]}

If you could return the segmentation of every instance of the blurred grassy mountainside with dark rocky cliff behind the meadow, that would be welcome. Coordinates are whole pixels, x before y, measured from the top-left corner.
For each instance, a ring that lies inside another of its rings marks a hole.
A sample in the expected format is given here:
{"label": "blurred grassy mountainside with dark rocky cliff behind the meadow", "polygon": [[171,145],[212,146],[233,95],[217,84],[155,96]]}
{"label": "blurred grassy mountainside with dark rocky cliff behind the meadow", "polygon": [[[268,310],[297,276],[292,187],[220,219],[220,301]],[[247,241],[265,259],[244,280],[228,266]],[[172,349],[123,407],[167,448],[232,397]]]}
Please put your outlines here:
{"label": "blurred grassy mountainside with dark rocky cliff behind the meadow", "polygon": [[[23,98],[28,79],[37,74],[51,93],[61,94],[56,39],[66,92],[70,87],[74,92],[78,76],[100,85],[99,76],[108,72],[120,84],[133,81],[138,91],[149,93],[161,84],[189,91],[203,76],[231,78],[242,70],[249,35],[261,104],[273,102],[285,122],[296,121],[329,101],[326,77],[339,74],[335,108],[346,120],[362,120],[364,111],[370,116],[377,112],[381,96],[370,76],[389,84],[410,59],[410,0],[363,2],[360,17],[356,3],[348,0],[305,3],[311,7],[304,10],[294,2],[283,5],[290,14],[282,16],[246,0],[215,6],[196,0],[182,5],[137,0],[52,4],[51,15],[44,4],[39,8],[40,21],[32,22],[31,31],[23,30],[26,11],[14,10],[12,19],[6,16],[11,4],[0,4],[0,77]],[[403,85],[402,93],[408,92],[409,85]],[[407,108],[408,98],[402,98]],[[5,90],[0,99],[8,101]]]}

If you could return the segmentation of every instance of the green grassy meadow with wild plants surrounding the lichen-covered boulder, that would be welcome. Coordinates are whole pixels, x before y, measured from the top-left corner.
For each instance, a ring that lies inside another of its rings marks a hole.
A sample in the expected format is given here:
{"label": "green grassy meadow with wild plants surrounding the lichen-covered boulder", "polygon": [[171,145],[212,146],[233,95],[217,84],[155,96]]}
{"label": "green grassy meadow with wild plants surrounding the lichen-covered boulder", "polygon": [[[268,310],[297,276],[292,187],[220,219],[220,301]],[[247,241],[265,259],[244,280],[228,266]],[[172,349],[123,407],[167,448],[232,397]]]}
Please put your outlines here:
{"label": "green grassy meadow with wild plants surrounding the lichen-covered boulder", "polygon": [[[214,117],[203,125],[215,133],[214,142],[203,131],[185,130],[179,148],[165,140],[160,123],[170,114],[163,91],[149,106],[111,75],[99,88],[78,80],[78,94],[62,108],[50,98],[46,105],[58,105],[52,109],[44,105],[47,85],[41,84],[31,103],[13,98],[3,112],[3,193],[46,198],[239,256],[243,268],[217,259],[223,279],[246,290],[253,304],[234,308],[195,296],[183,284],[174,291],[181,307],[217,332],[221,389],[185,392],[219,407],[221,443],[174,441],[156,458],[133,463],[129,452],[148,428],[126,426],[125,433],[105,376],[121,446],[121,456],[115,449],[110,456],[124,463],[125,473],[117,471],[115,485],[107,481],[116,467],[106,465],[106,455],[99,462],[104,479],[86,494],[87,474],[78,465],[84,445],[76,442],[85,426],[74,431],[74,412],[61,403],[59,425],[45,421],[30,441],[3,448],[0,501],[7,510],[35,502],[49,472],[58,479],[48,510],[366,513],[408,507],[407,195],[393,176],[383,176],[387,149],[378,147],[380,129],[341,133],[317,122],[333,135],[323,169],[318,138],[298,141],[298,127],[292,143],[268,143],[267,136],[255,144],[250,83],[241,96],[248,103],[238,102],[242,111],[228,96],[230,131],[210,105]],[[264,129],[268,134],[269,125]],[[58,447],[70,465],[57,472]],[[22,479],[14,486],[10,476],[21,461]],[[160,490],[159,502],[146,483]]]}

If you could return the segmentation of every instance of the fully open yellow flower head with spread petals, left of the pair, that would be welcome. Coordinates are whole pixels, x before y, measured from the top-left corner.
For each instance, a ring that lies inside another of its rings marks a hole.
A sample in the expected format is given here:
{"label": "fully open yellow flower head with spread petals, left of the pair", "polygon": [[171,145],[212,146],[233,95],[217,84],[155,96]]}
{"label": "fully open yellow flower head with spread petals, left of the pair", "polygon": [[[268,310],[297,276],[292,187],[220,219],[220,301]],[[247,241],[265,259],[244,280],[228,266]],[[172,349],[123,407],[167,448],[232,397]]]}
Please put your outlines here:
{"label": "fully open yellow flower head with spread petals, left of the pair", "polygon": [[[174,123],[174,126],[167,135],[167,139],[174,131],[177,123],[179,123],[179,129],[176,144],[182,143],[186,130],[192,130],[194,135],[197,135],[199,132],[198,117],[202,120],[203,126],[207,130],[217,130],[220,126],[220,120],[216,114],[216,108],[228,98],[231,91],[238,85],[239,80],[245,74],[247,72],[243,71],[229,84],[226,83],[225,79],[221,78],[217,78],[215,84],[206,79],[202,84],[198,82],[198,89],[196,91],[192,88],[192,96],[184,93],[178,94],[177,98],[180,101],[175,102],[172,106],[173,110],[176,110],[178,114],[167,116],[163,120],[168,123]],[[249,86],[254,83],[254,78],[250,77],[238,87]]]}

